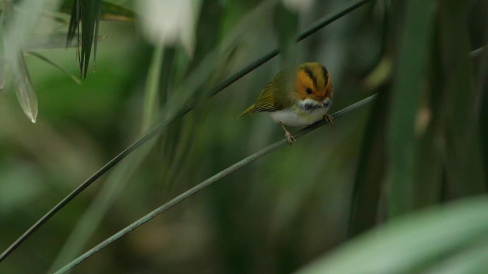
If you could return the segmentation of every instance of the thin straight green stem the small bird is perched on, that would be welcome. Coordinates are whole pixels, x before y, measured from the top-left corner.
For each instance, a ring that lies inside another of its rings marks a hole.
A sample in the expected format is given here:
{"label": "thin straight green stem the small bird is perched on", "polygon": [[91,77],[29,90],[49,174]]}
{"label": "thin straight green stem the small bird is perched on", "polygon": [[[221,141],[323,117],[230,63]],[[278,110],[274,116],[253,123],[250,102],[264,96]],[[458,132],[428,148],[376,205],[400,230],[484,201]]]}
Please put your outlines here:
{"label": "thin straight green stem the small bird is perched on", "polygon": [[[338,117],[346,115],[347,113],[352,112],[353,110],[356,110],[359,107],[367,105],[372,100],[374,100],[375,97],[376,97],[376,95],[371,95],[368,98],[365,98],[359,102],[356,102],[355,104],[352,104],[348,107],[345,107],[344,109],[342,109],[338,112],[335,112],[332,115],[332,117],[337,119]],[[325,120],[321,120],[320,122],[316,122],[313,125],[305,127],[303,130],[300,130],[299,132],[295,133],[293,136],[295,137],[295,139],[298,139],[300,137],[303,137],[304,135],[307,135],[308,133],[310,133],[314,130],[317,130],[317,128],[322,127],[324,125],[325,125]],[[288,144],[287,139],[281,139],[280,141],[275,142],[274,144],[270,144],[270,145],[268,145],[268,147],[260,149],[258,152],[255,152],[254,154],[251,154],[248,157],[245,157],[244,159],[242,159],[239,162],[231,165],[230,167],[224,169],[223,171],[218,172],[218,174],[211,176],[210,178],[206,179],[205,181],[200,182],[200,184],[193,186],[191,189],[188,189],[187,191],[183,192],[182,194],[171,199],[171,201],[166,202],[166,204],[163,204],[162,206],[159,206],[157,209],[154,209],[150,213],[146,214],[146,216],[139,218],[137,221],[131,223],[129,226],[126,226],[126,228],[123,228],[121,231],[118,231],[117,233],[113,234],[113,236],[107,238],[105,241],[99,243],[97,246],[91,248],[89,251],[86,251],[86,253],[83,253],[78,258],[76,258],[75,260],[72,260],[70,263],[65,265],[63,268],[56,271],[55,274],[66,273],[66,271],[71,270],[71,268],[73,268],[76,265],[78,265],[79,263],[83,262],[83,260],[86,260],[91,255],[97,253],[98,251],[101,251],[102,248],[105,248],[106,246],[110,245],[114,241],[118,240],[118,238],[121,238],[122,236],[133,231],[134,229],[138,228],[139,226],[142,226],[147,221],[150,221],[152,218],[158,216],[159,214],[163,213],[164,211],[170,209],[171,207],[176,206],[176,204],[179,204],[181,201],[189,198],[190,196],[193,196],[193,194],[196,194],[198,191],[205,189],[205,187],[210,186],[210,184],[215,183],[215,181],[219,181],[220,179],[223,179],[225,176],[232,174],[233,172],[237,171],[238,169],[247,166],[248,164],[254,162],[255,160],[260,159],[261,157],[265,156],[266,154],[269,154],[269,153],[275,151],[276,149],[283,147],[286,144]]]}

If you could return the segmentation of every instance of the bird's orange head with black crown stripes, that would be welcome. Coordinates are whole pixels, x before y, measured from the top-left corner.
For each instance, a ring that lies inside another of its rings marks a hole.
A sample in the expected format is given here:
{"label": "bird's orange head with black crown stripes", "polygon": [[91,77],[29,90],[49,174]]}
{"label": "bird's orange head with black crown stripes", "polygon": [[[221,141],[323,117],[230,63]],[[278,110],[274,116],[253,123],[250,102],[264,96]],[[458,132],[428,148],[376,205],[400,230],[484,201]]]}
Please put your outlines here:
{"label": "bird's orange head with black crown stripes", "polygon": [[297,69],[297,102],[300,107],[315,110],[330,107],[332,80],[325,66],[320,63],[303,63]]}

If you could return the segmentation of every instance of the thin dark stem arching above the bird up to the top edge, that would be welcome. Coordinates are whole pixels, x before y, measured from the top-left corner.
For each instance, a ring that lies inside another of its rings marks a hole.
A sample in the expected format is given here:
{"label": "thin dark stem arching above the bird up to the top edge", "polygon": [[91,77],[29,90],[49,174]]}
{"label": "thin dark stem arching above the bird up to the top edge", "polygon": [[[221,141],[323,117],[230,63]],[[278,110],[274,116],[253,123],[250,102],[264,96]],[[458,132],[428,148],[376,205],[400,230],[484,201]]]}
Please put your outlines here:
{"label": "thin dark stem arching above the bird up to the top edge", "polygon": [[[300,36],[298,36],[297,41],[302,41],[303,39],[307,38],[310,36],[312,33],[315,33],[319,31],[321,28],[327,26],[328,24],[332,23],[333,21],[340,19],[342,16],[345,16],[346,14],[350,13],[351,11],[359,8],[363,4],[366,4],[371,0],[353,0],[350,1],[349,3],[345,4],[341,9],[338,11],[329,14],[327,16],[324,16],[322,19],[317,21],[314,25],[312,25],[310,28],[308,28],[306,31],[304,31]],[[250,73],[251,71],[255,70],[255,68],[258,68],[260,65],[263,65],[264,63],[268,62],[268,60],[271,60],[273,57],[277,56],[280,53],[278,49],[275,49],[273,51],[270,51],[268,54],[263,56],[262,58],[259,58],[258,60],[255,60],[253,63],[250,63],[250,65],[246,66],[242,70],[240,70],[238,73],[235,73],[234,75],[230,76],[227,80],[223,81],[222,83],[218,84],[213,88],[213,90],[210,92],[210,95],[213,96],[217,93],[220,93],[220,91],[224,90],[227,88],[229,85],[232,85],[235,83],[237,80],[240,78],[243,78],[245,75]],[[152,130],[148,131],[143,137],[140,139],[136,140],[136,142],[133,142],[129,147],[123,150],[120,154],[118,154],[116,157],[111,159],[107,164],[105,164],[101,169],[99,169],[97,172],[95,172],[92,176],[90,176],[86,181],[84,181],[82,184],[80,184],[76,189],[71,191],[70,194],[68,194],[66,197],[64,197],[56,206],[54,206],[51,210],[49,210],[44,216],[42,216],[34,225],[32,225],[27,231],[25,231],[19,238],[14,241],[14,243],[9,246],[9,248],[6,248],[6,250],[0,254],[0,263],[3,261],[7,256],[10,255],[16,248],[18,248],[21,243],[26,241],[29,236],[31,236],[35,231],[37,231],[46,221],[48,221],[54,214],[56,214],[58,211],[60,211],[66,204],[69,203],[69,201],[73,200],[78,194],[80,194],[84,189],[86,189],[88,186],[93,184],[94,181],[96,181],[98,178],[100,178],[103,174],[108,172],[113,166],[115,166],[118,162],[121,162],[122,159],[128,156],[128,154],[131,154],[134,150],[138,149],[138,147],[141,147],[141,145],[145,144],[149,139],[152,139],[159,133],[161,133],[166,126],[177,120],[179,117],[185,115],[186,113],[190,112],[190,110],[193,110],[195,107],[195,103],[192,103],[190,105],[187,105],[186,107],[183,107],[179,112],[176,113],[176,115],[173,115],[173,117],[170,117],[167,122],[163,122],[159,125],[156,125]]]}

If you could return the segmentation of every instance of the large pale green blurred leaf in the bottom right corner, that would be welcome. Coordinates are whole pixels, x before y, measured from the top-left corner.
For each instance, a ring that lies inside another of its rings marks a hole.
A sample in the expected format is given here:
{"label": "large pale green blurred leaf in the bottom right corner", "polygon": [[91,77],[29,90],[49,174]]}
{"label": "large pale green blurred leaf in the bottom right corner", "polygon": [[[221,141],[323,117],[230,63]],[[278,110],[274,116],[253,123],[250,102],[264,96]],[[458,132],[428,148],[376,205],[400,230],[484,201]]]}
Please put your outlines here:
{"label": "large pale green blurred leaf in the bottom right corner", "polygon": [[488,198],[458,201],[397,218],[323,255],[298,274],[415,273],[488,233]]}

